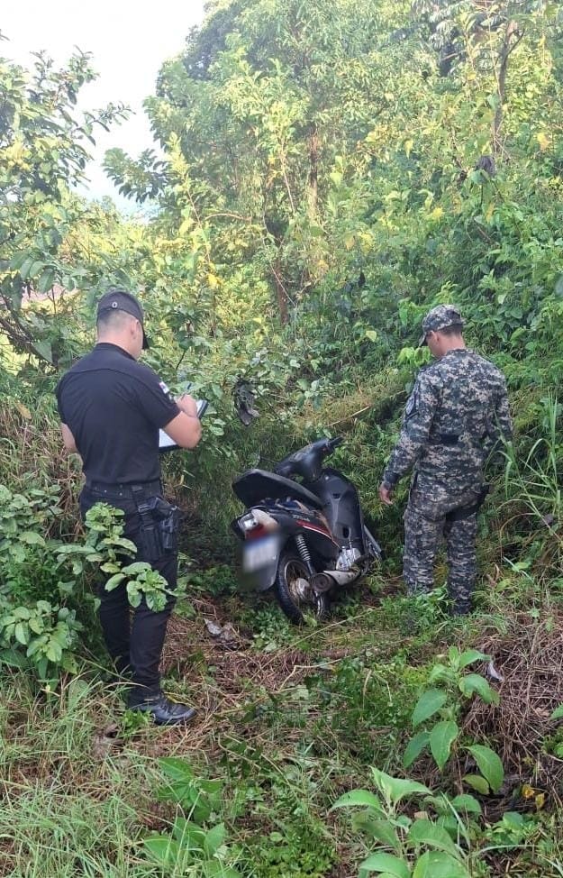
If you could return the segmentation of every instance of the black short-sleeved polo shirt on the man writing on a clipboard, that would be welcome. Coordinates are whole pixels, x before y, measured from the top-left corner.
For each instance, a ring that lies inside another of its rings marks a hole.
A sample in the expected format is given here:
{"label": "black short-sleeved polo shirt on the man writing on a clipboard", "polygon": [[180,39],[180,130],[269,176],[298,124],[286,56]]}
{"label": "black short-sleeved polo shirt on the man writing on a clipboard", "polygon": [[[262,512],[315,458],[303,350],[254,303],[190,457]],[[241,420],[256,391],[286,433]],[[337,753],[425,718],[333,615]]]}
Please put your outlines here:
{"label": "black short-sleeved polo shirt on the man writing on a clipboard", "polygon": [[87,482],[160,478],[159,428],[180,409],[156,372],[118,345],[102,342],[63,375],[56,392]]}

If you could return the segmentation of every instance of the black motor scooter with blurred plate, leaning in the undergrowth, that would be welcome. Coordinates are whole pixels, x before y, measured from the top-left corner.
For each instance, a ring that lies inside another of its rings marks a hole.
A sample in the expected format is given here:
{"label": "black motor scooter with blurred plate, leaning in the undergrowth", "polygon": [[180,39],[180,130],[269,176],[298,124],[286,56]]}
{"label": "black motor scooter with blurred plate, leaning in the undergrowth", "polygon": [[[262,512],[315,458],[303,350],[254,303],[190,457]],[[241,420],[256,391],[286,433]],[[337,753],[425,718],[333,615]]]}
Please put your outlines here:
{"label": "black motor scooter with blurred plate, leaning in the undergrowth", "polygon": [[242,571],[259,591],[272,589],[292,622],[322,618],[336,593],[381,559],[356,487],[323,465],[343,437],[318,439],[277,463],[248,470],[232,489],[245,512],[232,521]]}

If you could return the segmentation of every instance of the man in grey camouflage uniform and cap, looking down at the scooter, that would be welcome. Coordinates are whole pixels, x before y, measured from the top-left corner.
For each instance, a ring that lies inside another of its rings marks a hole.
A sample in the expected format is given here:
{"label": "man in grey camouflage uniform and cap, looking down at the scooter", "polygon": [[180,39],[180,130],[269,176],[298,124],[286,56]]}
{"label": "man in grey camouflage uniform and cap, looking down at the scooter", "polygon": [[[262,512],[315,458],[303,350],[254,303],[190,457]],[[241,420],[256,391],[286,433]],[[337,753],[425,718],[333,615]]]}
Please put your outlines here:
{"label": "man in grey camouflage uniform and cap, looking down at the scooter", "polygon": [[445,537],[456,614],[471,609],[486,458],[501,436],[512,435],[504,376],[466,348],[462,327],[451,305],[432,308],[424,317],[421,343],[436,361],[417,376],[379,486],[379,497],[391,504],[397,481],[413,469],[404,513],[404,581],[409,594],[431,590],[434,558]]}

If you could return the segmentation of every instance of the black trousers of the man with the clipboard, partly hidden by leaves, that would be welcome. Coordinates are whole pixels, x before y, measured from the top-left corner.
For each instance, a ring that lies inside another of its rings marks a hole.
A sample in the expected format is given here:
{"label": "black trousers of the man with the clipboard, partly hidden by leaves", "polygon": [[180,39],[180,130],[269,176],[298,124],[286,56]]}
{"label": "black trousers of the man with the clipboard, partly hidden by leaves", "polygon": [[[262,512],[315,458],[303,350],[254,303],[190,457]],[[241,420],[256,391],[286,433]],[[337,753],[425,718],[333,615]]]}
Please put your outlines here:
{"label": "black trousers of the man with the clipboard, partly hidden by leaves", "polygon": [[[160,483],[147,482],[141,486],[142,496],[149,499],[160,495]],[[98,484],[86,485],[80,495],[80,512],[86,517],[89,508],[96,503],[107,503],[123,509],[123,536],[137,546],[135,561],[150,563],[153,570],[162,574],[168,588],[177,586],[177,547],[162,549],[159,557],[148,557],[146,543],[143,541],[143,521],[138,511],[139,491],[133,498],[131,486]],[[152,553],[153,554],[153,553]],[[129,563],[128,559],[123,562]],[[127,598],[126,582],[112,590],[105,590],[105,583],[99,588],[100,623],[104,641],[109,654],[119,672],[129,670],[132,676],[130,704],[151,698],[160,691],[159,664],[162,646],[166,636],[168,618],[175,599],[168,595],[167,605],[160,612],[151,610],[145,599],[139,607],[132,610]]]}

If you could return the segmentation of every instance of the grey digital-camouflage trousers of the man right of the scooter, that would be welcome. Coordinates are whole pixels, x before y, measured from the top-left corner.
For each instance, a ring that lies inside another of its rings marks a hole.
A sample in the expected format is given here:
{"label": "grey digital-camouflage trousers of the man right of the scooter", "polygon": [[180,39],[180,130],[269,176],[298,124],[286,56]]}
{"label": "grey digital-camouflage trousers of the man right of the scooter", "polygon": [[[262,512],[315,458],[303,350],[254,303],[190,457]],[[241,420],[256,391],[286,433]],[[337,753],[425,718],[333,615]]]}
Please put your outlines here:
{"label": "grey digital-camouflage trousers of the man right of the scooter", "polygon": [[430,591],[434,560],[445,539],[448,590],[454,612],[468,613],[477,575],[477,510],[479,489],[449,492],[441,485],[418,486],[414,480],[404,513],[403,575],[409,594]]}

